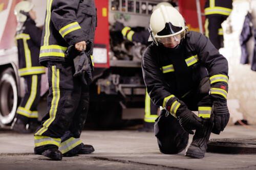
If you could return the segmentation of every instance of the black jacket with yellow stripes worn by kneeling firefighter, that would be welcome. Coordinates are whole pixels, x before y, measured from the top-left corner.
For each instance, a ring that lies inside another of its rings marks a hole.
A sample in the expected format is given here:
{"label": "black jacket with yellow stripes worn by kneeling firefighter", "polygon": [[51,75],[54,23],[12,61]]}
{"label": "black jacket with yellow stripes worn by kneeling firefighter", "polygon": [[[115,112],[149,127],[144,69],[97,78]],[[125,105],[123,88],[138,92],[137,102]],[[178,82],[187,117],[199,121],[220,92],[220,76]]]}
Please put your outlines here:
{"label": "black jacket with yellow stripes worn by kneeling firefighter", "polygon": [[142,58],[142,71],[154,104],[165,108],[168,96],[181,98],[198,84],[195,75],[200,72],[193,72],[198,63],[207,69],[212,91],[226,98],[221,92],[225,88],[226,94],[228,90],[228,63],[206,36],[187,31],[175,51],[155,43],[148,46]]}

